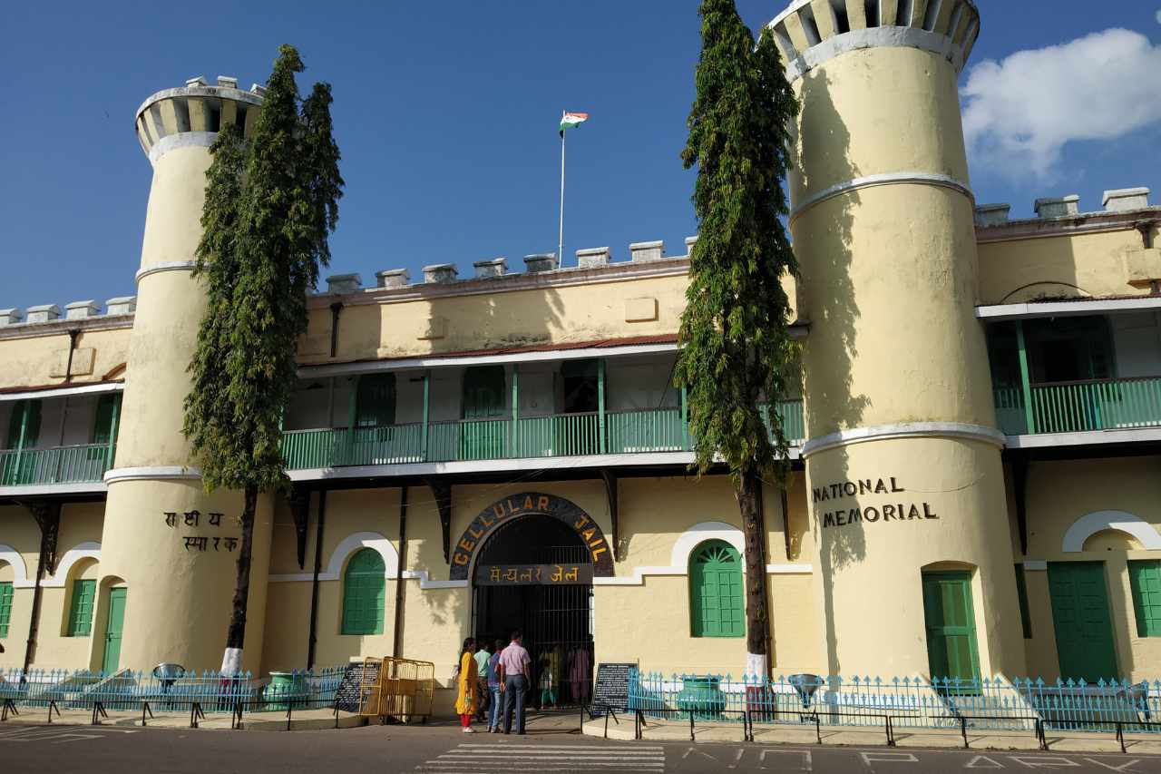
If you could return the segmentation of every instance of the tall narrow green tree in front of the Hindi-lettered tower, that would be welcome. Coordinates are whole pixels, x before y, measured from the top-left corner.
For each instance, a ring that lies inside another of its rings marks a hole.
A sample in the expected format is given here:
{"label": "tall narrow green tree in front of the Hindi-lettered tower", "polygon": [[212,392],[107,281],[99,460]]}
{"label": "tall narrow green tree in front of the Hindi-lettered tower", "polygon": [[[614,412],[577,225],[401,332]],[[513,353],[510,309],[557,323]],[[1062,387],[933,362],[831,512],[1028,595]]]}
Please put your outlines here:
{"label": "tall narrow green tree in front of the Hindi-lettered tower", "polygon": [[241,542],[222,672],[237,674],[246,636],[254,514],[260,493],[284,492],[279,443],[296,381],[295,343],[307,293],[330,261],[342,195],[331,87],[305,101],[298,52],[279,48],[252,136],[222,128],[210,149],[195,277],[208,296],[189,371],[185,433],[207,492],[243,492]]}

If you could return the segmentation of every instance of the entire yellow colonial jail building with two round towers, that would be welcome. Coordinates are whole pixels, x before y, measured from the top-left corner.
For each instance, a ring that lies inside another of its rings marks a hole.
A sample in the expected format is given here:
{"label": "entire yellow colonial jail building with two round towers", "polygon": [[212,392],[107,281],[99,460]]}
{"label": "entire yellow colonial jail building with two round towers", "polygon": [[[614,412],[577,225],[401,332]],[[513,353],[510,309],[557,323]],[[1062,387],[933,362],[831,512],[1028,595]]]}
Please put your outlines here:
{"label": "entire yellow colonial jail building with two round towers", "polygon": [[[802,101],[803,347],[793,471],[763,489],[772,672],[1156,678],[1161,207],[975,202],[968,0],[795,0],[771,26]],[[149,98],[136,295],[0,311],[0,666],[221,665],[240,495],[203,492],[180,431],[190,268],[208,146],[261,102],[230,78]],[[519,626],[574,698],[594,662],[741,674],[737,506],[688,472],[671,385],[688,258],[612,256],[310,298],[246,669],[397,654],[442,682],[463,637]]]}

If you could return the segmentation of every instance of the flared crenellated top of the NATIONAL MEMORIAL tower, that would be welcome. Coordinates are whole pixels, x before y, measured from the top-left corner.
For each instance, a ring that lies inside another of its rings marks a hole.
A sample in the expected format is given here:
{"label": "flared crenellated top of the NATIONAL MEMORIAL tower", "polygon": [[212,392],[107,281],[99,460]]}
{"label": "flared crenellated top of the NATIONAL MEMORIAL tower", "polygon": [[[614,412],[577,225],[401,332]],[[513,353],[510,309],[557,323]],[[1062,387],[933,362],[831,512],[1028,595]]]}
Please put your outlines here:
{"label": "flared crenellated top of the NATIONAL MEMORIAL tower", "polygon": [[972,0],[793,0],[769,27],[791,83],[858,49],[906,46],[938,53],[956,72],[980,36]]}

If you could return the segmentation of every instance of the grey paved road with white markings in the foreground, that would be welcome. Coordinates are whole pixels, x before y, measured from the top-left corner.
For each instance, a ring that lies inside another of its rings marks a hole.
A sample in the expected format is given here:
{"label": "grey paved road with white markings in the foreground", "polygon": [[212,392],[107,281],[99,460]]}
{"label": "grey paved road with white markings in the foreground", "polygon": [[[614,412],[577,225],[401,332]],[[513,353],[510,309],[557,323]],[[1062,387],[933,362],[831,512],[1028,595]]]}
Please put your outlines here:
{"label": "grey paved road with white markings in the foreground", "polygon": [[109,726],[0,726],[0,772],[123,774],[489,774],[589,772],[822,772],[916,774],[966,771],[1161,774],[1161,758],[1082,753],[897,751],[762,744],[605,741],[577,733],[464,736],[448,728],[238,732]]}

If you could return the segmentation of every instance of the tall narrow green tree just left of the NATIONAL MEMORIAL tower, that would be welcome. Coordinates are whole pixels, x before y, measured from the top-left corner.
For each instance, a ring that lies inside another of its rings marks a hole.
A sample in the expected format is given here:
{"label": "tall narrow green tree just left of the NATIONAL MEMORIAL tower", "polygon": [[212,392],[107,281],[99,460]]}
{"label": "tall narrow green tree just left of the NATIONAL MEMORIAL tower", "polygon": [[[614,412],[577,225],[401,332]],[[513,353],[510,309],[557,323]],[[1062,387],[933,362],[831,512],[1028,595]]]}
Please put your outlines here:
{"label": "tall narrow green tree just left of the NATIONAL MEMORIAL tower", "polygon": [[[698,242],[676,380],[688,390],[699,473],[724,460],[745,535],[747,672],[765,675],[770,616],[762,481],[781,486],[788,444],[774,403],[794,358],[781,279],[798,264],[780,220],[798,102],[769,29],[757,45],[734,0],[702,0],[690,138]],[[773,443],[767,436],[772,429]]]}

